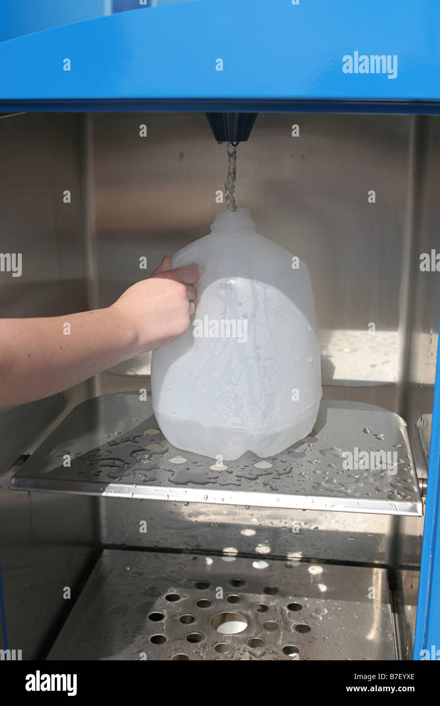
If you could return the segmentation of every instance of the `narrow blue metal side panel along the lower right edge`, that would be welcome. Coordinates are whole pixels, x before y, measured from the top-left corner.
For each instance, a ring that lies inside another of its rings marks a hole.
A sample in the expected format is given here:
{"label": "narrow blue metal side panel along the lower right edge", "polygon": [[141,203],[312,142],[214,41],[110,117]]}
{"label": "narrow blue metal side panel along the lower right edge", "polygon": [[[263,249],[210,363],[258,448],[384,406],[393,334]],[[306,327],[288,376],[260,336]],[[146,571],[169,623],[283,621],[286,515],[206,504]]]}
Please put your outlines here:
{"label": "narrow blue metal side panel along the lower right edge", "polygon": [[414,659],[440,659],[440,346],[432,412]]}

